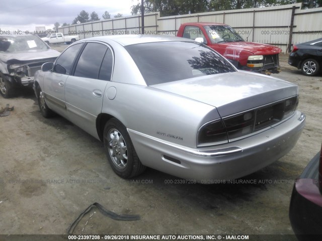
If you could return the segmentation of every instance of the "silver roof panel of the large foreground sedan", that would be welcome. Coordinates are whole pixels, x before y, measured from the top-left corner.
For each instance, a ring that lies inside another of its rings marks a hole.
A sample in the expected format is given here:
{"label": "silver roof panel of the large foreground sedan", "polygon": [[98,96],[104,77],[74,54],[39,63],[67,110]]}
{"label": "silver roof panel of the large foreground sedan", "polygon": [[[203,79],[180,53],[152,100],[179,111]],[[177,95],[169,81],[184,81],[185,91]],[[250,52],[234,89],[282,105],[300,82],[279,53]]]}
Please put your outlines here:
{"label": "silver roof panel of the large foreground sedan", "polygon": [[[195,42],[186,38],[179,38],[167,35],[110,35],[110,36],[100,36],[88,39],[83,39],[81,41],[101,41],[108,43],[109,41],[115,41],[122,46],[142,44],[142,43],[154,43],[154,42]],[[77,41],[79,42],[79,41]]]}

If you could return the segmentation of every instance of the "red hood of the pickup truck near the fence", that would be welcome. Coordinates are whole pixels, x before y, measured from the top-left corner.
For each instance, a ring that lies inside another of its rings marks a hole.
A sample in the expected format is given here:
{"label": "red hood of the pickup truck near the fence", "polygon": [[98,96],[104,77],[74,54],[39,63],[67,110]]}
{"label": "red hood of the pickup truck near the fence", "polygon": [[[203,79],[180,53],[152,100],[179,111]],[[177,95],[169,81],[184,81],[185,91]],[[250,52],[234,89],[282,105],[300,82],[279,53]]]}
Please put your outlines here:
{"label": "red hood of the pickup truck near the fence", "polygon": [[237,50],[237,51],[248,51],[253,53],[254,55],[272,55],[278,54],[282,52],[280,48],[277,48],[273,45],[269,44],[260,44],[260,43],[253,43],[253,42],[226,42],[226,43],[219,43],[219,47]]}

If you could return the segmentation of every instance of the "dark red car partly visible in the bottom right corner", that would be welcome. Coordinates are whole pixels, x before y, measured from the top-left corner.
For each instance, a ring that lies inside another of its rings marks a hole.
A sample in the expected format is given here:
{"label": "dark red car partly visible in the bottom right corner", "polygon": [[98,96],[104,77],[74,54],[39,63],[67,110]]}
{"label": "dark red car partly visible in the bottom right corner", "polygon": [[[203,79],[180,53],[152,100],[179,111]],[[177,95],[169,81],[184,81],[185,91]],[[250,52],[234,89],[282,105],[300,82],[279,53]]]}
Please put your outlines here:
{"label": "dark red car partly visible in the bottom right corner", "polygon": [[322,146],[295,181],[289,218],[298,240],[322,240]]}

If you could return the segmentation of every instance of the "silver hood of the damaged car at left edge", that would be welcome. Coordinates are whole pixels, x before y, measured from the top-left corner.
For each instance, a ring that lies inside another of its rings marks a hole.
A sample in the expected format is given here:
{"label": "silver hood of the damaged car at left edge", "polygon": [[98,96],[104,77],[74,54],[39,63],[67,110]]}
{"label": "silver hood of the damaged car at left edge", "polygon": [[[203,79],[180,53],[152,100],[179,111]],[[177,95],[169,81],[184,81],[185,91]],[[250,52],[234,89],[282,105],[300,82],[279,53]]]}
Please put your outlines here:
{"label": "silver hood of the damaged car at left edge", "polygon": [[47,50],[30,50],[30,51],[21,51],[15,53],[0,53],[0,60],[3,62],[24,62],[24,61],[33,61],[33,60],[43,60],[50,58],[57,58],[60,53],[54,49]]}

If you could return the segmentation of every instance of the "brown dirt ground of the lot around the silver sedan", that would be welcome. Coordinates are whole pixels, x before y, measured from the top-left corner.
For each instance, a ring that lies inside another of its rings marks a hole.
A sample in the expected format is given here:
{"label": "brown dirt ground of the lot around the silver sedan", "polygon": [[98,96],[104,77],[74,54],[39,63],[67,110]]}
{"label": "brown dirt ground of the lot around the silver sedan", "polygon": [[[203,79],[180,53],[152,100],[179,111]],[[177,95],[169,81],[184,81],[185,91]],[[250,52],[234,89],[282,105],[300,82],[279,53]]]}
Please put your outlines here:
{"label": "brown dirt ground of the lot around the silver sedan", "polygon": [[282,72],[272,76],[299,85],[306,126],[289,154],[239,179],[256,184],[167,184],[178,178],[152,169],[122,179],[102,143],[60,116],[43,118],[32,90],[0,96],[0,106],[15,106],[0,117],[0,234],[67,234],[95,202],[140,220],[114,220],[94,208],[74,234],[293,234],[288,207],[294,179],[322,142],[322,76],[302,75],[287,58],[281,54]]}

